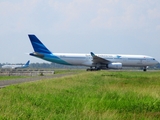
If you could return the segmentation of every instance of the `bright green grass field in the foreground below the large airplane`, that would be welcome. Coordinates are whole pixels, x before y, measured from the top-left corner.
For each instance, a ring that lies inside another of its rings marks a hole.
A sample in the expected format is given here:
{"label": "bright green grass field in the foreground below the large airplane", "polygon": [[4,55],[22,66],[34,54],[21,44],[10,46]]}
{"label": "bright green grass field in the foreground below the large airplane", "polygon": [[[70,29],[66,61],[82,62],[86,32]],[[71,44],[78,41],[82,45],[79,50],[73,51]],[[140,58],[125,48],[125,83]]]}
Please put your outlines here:
{"label": "bright green grass field in the foreground below the large airplane", "polygon": [[0,89],[0,119],[159,120],[160,71],[81,72]]}

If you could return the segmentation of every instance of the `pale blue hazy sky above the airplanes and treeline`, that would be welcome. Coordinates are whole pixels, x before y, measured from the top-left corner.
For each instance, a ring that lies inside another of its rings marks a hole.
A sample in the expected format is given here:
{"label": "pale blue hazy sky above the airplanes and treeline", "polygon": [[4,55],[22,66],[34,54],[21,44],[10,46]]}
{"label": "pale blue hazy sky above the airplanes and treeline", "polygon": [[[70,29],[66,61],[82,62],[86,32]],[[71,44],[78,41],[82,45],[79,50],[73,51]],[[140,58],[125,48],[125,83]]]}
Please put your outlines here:
{"label": "pale blue hazy sky above the airplanes and treeline", "polygon": [[0,63],[43,63],[28,34],[53,53],[138,54],[160,62],[160,0],[1,0]]}

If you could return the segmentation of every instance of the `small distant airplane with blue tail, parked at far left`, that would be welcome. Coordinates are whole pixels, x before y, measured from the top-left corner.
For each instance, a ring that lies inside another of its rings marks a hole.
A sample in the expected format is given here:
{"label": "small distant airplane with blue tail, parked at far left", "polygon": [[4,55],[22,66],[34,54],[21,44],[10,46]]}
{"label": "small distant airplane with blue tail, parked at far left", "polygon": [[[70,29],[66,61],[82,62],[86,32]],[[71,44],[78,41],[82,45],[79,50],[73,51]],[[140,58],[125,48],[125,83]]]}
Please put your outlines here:
{"label": "small distant airplane with blue tail, parked at far left", "polygon": [[2,68],[4,69],[17,69],[17,68],[26,68],[29,66],[29,60],[24,65],[3,65]]}

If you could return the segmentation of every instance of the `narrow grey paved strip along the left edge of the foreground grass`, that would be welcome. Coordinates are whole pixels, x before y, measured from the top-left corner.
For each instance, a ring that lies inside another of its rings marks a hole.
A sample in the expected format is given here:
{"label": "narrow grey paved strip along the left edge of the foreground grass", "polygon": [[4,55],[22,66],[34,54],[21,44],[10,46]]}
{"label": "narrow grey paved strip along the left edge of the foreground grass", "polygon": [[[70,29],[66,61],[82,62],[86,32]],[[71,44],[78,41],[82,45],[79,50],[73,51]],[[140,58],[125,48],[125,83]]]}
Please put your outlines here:
{"label": "narrow grey paved strip along the left edge of the foreground grass", "polygon": [[75,74],[75,73],[54,74],[54,75],[50,75],[50,76],[37,76],[37,77],[30,77],[30,78],[18,78],[18,79],[11,79],[11,80],[1,80],[0,81],[0,88],[6,87],[6,86],[12,85],[12,84],[37,81],[37,80],[42,80],[42,79],[47,79],[47,78],[59,78],[59,77],[73,75],[73,74]]}

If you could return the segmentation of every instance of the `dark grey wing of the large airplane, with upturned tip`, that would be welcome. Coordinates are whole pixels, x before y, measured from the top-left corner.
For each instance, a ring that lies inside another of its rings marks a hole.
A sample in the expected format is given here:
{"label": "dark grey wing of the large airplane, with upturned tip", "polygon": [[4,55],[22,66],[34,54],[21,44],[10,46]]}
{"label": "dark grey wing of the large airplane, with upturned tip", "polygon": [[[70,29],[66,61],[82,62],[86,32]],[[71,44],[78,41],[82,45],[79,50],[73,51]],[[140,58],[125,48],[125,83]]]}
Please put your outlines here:
{"label": "dark grey wing of the large airplane, with upturned tip", "polygon": [[93,63],[94,64],[108,64],[108,63],[110,63],[111,61],[109,61],[109,60],[106,60],[106,59],[104,59],[104,58],[102,58],[102,57],[99,57],[99,56],[97,56],[97,55],[95,55],[93,52],[91,52],[91,56],[93,57]]}

